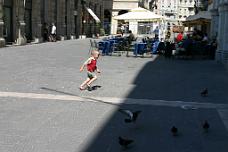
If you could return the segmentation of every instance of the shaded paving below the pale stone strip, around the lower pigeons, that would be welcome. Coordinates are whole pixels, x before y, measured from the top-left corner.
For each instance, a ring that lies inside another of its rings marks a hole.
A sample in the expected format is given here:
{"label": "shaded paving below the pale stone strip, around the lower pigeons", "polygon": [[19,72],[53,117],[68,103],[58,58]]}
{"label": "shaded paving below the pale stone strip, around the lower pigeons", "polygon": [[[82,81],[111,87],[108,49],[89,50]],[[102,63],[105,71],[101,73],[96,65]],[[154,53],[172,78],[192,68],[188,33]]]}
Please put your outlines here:
{"label": "shaded paving below the pale stone strip, around the lower pigeons", "polygon": [[[200,109],[186,111],[180,108],[129,105],[121,108],[141,109],[142,115],[136,124],[124,123],[124,116],[115,113],[101,132],[83,152],[94,151],[156,151],[156,152],[221,152],[228,150],[228,134],[217,111]],[[207,119],[211,130],[205,133],[202,122]],[[171,127],[178,127],[178,136],[173,137]],[[130,138],[134,143],[127,150],[118,144],[118,136]]]}

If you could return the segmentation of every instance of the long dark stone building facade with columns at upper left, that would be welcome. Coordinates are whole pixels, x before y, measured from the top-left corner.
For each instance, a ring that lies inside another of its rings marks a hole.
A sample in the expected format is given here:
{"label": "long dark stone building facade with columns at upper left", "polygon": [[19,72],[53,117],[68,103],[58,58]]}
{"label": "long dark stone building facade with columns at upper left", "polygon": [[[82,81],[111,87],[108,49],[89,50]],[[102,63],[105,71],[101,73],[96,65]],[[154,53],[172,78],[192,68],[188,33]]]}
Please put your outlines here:
{"label": "long dark stone building facade with columns at upper left", "polygon": [[[93,19],[86,8],[100,18]],[[43,26],[55,23],[59,40],[92,36],[103,25],[103,0],[0,0],[0,46],[43,40]]]}

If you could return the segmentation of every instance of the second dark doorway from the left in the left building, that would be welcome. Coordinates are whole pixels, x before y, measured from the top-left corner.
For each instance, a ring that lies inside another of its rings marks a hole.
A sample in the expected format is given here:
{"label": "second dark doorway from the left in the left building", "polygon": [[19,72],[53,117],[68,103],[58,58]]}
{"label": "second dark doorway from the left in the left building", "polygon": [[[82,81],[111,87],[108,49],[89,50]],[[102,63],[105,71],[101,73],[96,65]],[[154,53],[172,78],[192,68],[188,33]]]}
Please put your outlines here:
{"label": "second dark doorway from the left in the left building", "polygon": [[32,40],[32,0],[26,0],[25,3],[25,36],[27,41]]}

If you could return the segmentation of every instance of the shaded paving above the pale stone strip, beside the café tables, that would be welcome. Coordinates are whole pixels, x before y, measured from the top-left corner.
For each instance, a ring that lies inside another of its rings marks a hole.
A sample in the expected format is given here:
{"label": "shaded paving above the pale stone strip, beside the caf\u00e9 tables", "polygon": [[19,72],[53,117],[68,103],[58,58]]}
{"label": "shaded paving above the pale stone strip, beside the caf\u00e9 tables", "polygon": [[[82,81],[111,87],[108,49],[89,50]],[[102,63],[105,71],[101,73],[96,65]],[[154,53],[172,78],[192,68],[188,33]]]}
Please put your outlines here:
{"label": "shaded paving above the pale stone strip, beside the caf\u00e9 tables", "polygon": [[[128,98],[226,103],[227,71],[208,60],[164,60],[150,62],[141,70]],[[200,93],[208,88],[207,98]]]}

